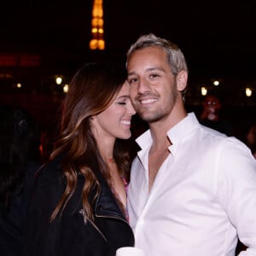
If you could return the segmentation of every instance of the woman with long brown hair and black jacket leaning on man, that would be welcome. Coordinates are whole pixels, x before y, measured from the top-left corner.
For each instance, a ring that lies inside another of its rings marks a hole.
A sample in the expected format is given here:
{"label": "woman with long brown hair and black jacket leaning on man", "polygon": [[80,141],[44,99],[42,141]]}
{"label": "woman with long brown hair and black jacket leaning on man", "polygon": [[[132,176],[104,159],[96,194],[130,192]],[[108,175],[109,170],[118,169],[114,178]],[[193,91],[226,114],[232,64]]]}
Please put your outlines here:
{"label": "woman with long brown hair and black jacket leaning on man", "polygon": [[61,114],[60,138],[33,192],[25,255],[114,256],[133,246],[125,218],[131,137],[125,67],[86,64],[75,74]]}

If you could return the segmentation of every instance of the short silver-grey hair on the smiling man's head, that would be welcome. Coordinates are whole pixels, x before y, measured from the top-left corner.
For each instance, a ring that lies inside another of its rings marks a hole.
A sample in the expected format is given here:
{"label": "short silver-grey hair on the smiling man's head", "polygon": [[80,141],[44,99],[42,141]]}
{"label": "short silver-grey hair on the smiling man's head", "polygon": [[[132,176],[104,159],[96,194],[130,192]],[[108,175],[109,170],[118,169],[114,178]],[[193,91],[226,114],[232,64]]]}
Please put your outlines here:
{"label": "short silver-grey hair on the smiling man's head", "polygon": [[173,75],[177,75],[180,71],[184,70],[189,72],[185,57],[181,49],[178,48],[176,44],[164,39],[158,38],[153,33],[148,35],[143,35],[137,39],[137,41],[131,45],[130,49],[127,51],[126,57],[126,67],[127,62],[131,55],[138,49],[144,49],[151,46],[158,46],[166,52],[167,61],[171,67]]}

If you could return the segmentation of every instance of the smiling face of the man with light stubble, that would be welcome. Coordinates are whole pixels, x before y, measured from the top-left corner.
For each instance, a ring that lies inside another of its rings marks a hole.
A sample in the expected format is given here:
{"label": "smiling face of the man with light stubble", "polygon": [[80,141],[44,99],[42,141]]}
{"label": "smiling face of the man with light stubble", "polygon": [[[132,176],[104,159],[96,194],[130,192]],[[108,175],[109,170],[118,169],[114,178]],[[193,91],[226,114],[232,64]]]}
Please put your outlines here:
{"label": "smiling face of the man with light stubble", "polygon": [[133,107],[148,123],[168,116],[177,102],[176,77],[160,47],[135,51],[127,63]]}

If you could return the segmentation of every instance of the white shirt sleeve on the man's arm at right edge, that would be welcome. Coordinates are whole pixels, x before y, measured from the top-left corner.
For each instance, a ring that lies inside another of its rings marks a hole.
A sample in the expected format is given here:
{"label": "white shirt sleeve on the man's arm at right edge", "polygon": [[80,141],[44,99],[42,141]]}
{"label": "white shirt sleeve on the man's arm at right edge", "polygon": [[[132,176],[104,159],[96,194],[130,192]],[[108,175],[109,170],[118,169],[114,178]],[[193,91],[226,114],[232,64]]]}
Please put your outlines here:
{"label": "white shirt sleeve on the man's arm at right edge", "polygon": [[247,250],[256,255],[256,161],[249,148],[228,138],[219,155],[218,201]]}

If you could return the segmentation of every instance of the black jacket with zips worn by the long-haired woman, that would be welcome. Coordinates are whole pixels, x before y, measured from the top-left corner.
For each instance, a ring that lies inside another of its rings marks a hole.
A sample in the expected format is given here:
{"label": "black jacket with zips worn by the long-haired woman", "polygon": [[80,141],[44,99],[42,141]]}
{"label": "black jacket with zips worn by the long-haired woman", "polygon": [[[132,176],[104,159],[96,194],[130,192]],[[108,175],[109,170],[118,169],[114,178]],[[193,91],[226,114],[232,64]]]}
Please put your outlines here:
{"label": "black jacket with zips worn by the long-haired woman", "polygon": [[134,246],[131,227],[102,176],[98,177],[101,191],[94,205],[94,222],[84,218],[81,202],[84,177],[79,175],[77,189],[61,218],[49,223],[65,189],[62,176],[60,159],[39,172],[28,216],[24,255],[114,256],[117,248]]}

